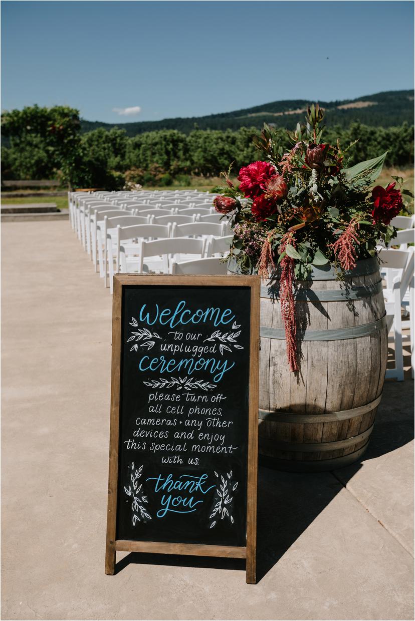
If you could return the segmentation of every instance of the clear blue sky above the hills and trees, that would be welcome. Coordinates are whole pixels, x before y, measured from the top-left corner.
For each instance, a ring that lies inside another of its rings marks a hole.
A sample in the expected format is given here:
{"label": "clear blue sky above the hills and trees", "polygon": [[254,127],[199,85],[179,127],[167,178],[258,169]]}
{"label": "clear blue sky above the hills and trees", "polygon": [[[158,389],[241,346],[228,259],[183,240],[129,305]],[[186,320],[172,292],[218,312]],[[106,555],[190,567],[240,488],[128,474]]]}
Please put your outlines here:
{"label": "clear blue sky above the hills and trees", "polygon": [[1,9],[2,109],[68,104],[84,119],[122,123],[414,86],[412,1],[5,0]]}

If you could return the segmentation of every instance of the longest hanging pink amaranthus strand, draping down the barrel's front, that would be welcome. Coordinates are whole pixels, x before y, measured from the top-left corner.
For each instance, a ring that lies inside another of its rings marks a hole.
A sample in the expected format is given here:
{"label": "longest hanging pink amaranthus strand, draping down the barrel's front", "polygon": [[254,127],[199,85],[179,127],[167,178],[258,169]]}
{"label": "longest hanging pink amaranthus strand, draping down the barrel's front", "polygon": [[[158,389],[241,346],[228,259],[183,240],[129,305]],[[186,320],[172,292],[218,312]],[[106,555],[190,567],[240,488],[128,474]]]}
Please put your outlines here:
{"label": "longest hanging pink amaranthus strand, draping down the barrel's front", "polygon": [[[285,252],[286,245],[295,248],[293,233],[285,233],[281,239],[280,253]],[[287,349],[288,365],[291,371],[298,371],[297,362],[297,326],[295,320],[294,301],[294,259],[285,254],[280,261],[280,303],[281,315],[285,327],[285,340]]]}

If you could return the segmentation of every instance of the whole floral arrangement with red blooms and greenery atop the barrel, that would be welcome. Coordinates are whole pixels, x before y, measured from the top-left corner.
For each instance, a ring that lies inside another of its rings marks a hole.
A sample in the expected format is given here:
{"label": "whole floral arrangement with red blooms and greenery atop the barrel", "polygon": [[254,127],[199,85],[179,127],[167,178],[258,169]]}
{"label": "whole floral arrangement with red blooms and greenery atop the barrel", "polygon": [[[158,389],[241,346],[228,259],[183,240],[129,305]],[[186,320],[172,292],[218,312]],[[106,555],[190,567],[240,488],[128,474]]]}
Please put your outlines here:
{"label": "whole floral arrangement with red blooms and greenery atop the barrel", "polygon": [[[284,150],[278,132],[264,125],[253,137],[262,152],[239,171],[239,186],[222,173],[216,211],[230,219],[234,238],[230,257],[241,273],[257,272],[279,282],[278,296],[285,325],[288,363],[298,371],[294,288],[312,266],[330,263],[338,277],[359,259],[376,255],[376,243],[387,246],[396,235],[391,220],[408,211],[408,190],[393,177],[386,188],[373,183],[386,153],[348,167],[347,148],[322,140],[324,111],[308,109],[306,125],[287,132],[292,147]],[[265,161],[264,161],[265,160]]]}

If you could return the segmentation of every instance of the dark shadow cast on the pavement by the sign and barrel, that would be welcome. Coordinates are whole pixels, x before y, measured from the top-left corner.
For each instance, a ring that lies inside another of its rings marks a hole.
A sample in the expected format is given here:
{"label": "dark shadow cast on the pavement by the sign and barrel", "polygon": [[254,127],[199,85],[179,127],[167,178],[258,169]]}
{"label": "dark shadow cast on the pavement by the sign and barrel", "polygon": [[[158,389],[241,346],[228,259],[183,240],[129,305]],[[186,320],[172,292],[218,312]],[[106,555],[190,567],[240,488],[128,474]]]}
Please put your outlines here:
{"label": "dark shadow cast on the pavement by the sign and barrel", "polygon": [[[339,478],[331,472],[287,473],[260,466],[257,582],[278,563],[365,461],[411,442],[414,438],[413,384],[411,380],[385,383],[368,450],[360,462],[339,469]],[[240,559],[130,553],[116,564],[116,572],[130,563],[245,569],[245,561]]]}

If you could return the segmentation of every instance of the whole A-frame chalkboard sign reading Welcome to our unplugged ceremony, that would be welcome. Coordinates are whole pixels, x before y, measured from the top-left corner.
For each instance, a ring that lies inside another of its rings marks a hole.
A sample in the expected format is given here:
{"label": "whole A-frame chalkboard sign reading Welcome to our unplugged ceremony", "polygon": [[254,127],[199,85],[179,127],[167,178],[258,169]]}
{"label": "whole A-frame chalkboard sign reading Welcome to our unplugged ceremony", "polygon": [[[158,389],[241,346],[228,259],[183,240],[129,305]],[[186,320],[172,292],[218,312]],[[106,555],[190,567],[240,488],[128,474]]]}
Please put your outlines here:
{"label": "whole A-frame chalkboard sign reading Welcome to our unplugged ceremony", "polygon": [[258,276],[114,277],[107,574],[227,556],[255,583],[259,303]]}

